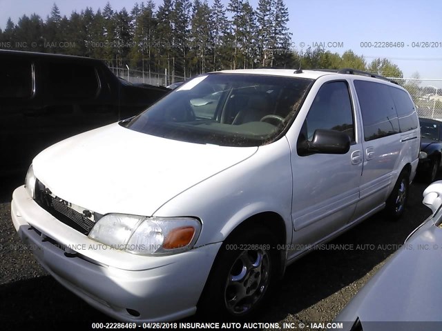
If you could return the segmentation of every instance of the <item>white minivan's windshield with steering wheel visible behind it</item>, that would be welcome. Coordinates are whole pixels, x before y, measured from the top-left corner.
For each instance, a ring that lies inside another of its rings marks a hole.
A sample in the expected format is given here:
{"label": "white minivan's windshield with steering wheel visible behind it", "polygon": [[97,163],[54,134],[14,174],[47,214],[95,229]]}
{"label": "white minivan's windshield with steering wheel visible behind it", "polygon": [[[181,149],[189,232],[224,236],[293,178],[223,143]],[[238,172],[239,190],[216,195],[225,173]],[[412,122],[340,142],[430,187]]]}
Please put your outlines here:
{"label": "white minivan's windshield with steering wheel visible behind it", "polygon": [[260,146],[299,110],[312,79],[206,74],[124,124],[158,137],[221,146]]}

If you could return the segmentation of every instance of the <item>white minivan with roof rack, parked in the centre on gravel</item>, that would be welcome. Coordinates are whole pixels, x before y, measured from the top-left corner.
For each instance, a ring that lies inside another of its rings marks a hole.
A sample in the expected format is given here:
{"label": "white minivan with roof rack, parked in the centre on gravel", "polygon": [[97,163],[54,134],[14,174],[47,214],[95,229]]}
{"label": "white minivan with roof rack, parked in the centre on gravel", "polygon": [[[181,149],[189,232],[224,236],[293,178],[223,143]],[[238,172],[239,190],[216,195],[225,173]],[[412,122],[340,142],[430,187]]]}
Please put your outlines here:
{"label": "white minivan with roof rack, parked in the centre on gravel", "polygon": [[122,321],[244,317],[314,245],[403,214],[406,90],[345,69],[203,74],[35,157],[12,220],[66,288]]}

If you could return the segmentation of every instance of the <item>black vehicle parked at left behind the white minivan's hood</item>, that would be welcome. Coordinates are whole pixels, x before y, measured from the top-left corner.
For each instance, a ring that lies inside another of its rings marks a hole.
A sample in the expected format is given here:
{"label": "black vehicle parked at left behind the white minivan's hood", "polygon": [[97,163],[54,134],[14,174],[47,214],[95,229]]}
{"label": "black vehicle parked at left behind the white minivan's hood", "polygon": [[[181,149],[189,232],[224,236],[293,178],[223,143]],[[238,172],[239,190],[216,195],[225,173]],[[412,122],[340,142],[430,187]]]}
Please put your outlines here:
{"label": "black vehicle parked at left behind the white minivan's hood", "polygon": [[97,59],[0,50],[0,176],[61,139],[132,117],[168,91],[134,86]]}

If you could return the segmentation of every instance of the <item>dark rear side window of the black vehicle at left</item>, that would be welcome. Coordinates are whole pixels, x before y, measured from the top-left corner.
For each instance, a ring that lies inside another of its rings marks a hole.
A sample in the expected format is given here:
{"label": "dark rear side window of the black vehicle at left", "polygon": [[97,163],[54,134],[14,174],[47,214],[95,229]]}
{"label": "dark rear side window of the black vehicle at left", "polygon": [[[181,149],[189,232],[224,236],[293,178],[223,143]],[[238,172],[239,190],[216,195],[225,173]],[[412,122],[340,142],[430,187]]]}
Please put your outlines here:
{"label": "dark rear side window of the black vehicle at left", "polygon": [[99,88],[95,68],[77,63],[48,63],[48,84],[53,99],[93,99]]}

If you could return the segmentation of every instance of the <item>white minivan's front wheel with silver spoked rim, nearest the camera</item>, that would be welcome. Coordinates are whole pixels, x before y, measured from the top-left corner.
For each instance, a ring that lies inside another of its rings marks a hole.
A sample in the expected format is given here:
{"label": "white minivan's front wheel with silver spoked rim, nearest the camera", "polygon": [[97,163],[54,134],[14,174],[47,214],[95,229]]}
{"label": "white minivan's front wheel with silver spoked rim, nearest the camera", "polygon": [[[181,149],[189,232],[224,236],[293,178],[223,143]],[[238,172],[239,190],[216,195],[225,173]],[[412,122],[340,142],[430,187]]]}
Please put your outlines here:
{"label": "white minivan's front wheel with silver spoked rim, nearest the camera", "polygon": [[277,263],[276,240],[268,230],[257,228],[228,239],[218,252],[199,310],[216,319],[251,317],[268,296]]}

